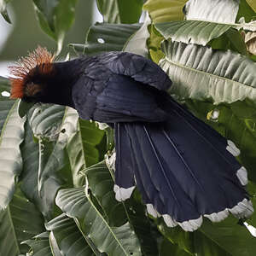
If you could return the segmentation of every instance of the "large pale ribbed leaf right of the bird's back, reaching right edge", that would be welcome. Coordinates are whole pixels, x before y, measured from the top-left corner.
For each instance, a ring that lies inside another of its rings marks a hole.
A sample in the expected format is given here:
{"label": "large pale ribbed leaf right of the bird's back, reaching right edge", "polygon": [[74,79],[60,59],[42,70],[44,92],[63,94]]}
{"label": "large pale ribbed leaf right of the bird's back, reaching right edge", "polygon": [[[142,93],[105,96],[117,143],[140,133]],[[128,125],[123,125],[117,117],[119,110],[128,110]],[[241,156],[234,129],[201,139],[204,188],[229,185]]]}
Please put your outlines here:
{"label": "large pale ribbed leaf right of the bird's back, reaching right edge", "polygon": [[180,100],[231,103],[256,99],[256,64],[231,51],[213,51],[195,44],[165,41],[160,61],[172,79],[170,93]]}

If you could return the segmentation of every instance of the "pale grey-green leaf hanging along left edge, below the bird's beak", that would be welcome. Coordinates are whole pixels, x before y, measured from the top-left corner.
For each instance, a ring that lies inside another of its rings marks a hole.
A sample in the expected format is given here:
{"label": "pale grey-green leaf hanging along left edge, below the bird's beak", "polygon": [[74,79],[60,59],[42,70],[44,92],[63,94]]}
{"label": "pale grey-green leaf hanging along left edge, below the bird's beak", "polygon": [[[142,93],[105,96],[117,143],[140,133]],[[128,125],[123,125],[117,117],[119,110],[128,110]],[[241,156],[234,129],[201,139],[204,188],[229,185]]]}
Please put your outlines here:
{"label": "pale grey-green leaf hanging along left edge, below the bird's beak", "polygon": [[20,143],[23,141],[24,119],[18,116],[18,101],[12,105],[12,101],[0,101],[0,210],[11,201],[22,169]]}

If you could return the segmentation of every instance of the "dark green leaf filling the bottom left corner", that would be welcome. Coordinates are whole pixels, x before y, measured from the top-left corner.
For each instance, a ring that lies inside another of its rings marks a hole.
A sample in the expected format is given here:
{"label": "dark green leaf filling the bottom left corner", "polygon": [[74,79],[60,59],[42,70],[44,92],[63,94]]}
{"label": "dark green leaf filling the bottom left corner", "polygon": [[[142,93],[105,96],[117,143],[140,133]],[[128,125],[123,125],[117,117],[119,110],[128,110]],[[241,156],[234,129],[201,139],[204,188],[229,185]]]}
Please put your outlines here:
{"label": "dark green leaf filling the bottom left corner", "polygon": [[28,247],[20,245],[20,242],[42,231],[42,214],[18,189],[9,207],[0,212],[0,255],[14,256],[26,253]]}

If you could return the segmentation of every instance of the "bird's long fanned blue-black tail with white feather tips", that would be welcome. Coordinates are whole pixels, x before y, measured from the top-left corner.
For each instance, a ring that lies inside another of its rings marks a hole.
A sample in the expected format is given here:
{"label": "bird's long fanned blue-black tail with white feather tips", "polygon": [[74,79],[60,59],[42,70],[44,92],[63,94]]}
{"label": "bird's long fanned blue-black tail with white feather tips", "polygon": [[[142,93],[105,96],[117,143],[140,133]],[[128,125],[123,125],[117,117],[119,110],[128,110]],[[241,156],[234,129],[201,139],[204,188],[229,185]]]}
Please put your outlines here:
{"label": "bird's long fanned blue-black tail with white feather tips", "polygon": [[129,198],[136,184],[149,214],[187,231],[198,229],[203,216],[213,222],[230,212],[250,216],[239,149],[177,102],[168,104],[165,123],[115,125],[116,199]]}

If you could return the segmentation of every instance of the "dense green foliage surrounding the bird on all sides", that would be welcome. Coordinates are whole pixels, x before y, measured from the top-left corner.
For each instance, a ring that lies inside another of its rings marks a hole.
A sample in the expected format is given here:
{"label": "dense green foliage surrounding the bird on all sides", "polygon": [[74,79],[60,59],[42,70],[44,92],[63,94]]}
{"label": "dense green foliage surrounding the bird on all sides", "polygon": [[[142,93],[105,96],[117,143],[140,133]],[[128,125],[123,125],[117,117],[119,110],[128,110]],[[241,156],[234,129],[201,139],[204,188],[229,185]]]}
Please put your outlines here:
{"label": "dense green foliage surrounding the bird on all sides", "polygon": [[[17,8],[24,8],[16,2]],[[60,53],[64,45],[63,56],[123,49],[159,62],[174,82],[170,93],[241,148],[239,160],[247,167],[247,189],[255,206],[256,66],[255,53],[249,51],[255,35],[244,38],[256,27],[238,23],[242,16],[247,23],[256,19],[255,3],[190,0],[183,20],[185,0],[98,0],[104,23],[87,32],[90,15],[83,15],[78,21],[83,24],[81,38],[71,33],[63,42],[75,19],[75,6],[79,4],[83,14],[92,3],[81,2],[29,4],[42,31],[55,40],[51,47]],[[10,21],[6,4],[9,0],[0,1],[0,11]],[[142,9],[151,20],[138,24]],[[17,19],[26,19],[25,14],[20,11]],[[17,20],[1,58],[20,54],[20,49],[26,54],[36,46],[28,27]],[[26,47],[17,44],[25,39]],[[44,44],[39,36],[36,39]],[[9,81],[1,78],[3,91],[9,91]],[[205,219],[200,230],[186,233],[148,216],[137,191],[128,201],[115,201],[110,128],[98,129],[71,108],[38,105],[26,119],[18,117],[17,108],[18,102],[0,96],[0,255],[255,254],[255,237],[243,221],[231,216],[219,224]],[[256,226],[255,213],[247,223]]]}

